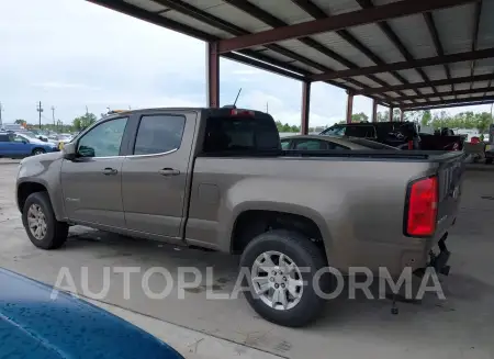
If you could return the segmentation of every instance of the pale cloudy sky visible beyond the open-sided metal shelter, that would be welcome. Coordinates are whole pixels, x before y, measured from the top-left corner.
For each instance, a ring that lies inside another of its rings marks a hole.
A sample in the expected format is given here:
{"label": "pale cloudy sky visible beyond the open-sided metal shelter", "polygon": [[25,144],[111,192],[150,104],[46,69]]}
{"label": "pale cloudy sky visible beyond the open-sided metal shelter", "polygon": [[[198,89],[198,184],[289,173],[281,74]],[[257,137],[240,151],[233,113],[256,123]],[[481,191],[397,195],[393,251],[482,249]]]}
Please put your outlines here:
{"label": "pale cloudy sky visible beyond the open-sided metal shelter", "polygon": [[[0,102],[3,123],[15,119],[69,124],[110,109],[206,105],[205,44],[82,0],[0,2]],[[266,110],[300,124],[302,83],[232,60],[221,60],[221,105]],[[53,113],[52,106],[55,108]],[[372,102],[356,97],[353,113],[370,116]],[[345,119],[346,93],[312,86],[311,126]],[[378,111],[385,111],[379,108]],[[454,108],[490,111],[490,105]]]}

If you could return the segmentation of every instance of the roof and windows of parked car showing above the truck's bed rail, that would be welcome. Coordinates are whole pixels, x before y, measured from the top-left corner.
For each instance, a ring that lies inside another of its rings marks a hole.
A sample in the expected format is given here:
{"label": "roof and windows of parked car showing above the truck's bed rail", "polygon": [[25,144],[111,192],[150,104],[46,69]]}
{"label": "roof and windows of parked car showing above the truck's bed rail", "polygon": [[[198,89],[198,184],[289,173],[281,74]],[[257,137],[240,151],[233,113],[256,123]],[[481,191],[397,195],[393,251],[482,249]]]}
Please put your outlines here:
{"label": "roof and windows of parked car showing above the truck's bed rail", "polygon": [[281,139],[282,149],[307,149],[307,150],[329,150],[329,149],[391,149],[396,147],[388,146],[366,138],[347,136],[325,136],[325,135],[295,135]]}

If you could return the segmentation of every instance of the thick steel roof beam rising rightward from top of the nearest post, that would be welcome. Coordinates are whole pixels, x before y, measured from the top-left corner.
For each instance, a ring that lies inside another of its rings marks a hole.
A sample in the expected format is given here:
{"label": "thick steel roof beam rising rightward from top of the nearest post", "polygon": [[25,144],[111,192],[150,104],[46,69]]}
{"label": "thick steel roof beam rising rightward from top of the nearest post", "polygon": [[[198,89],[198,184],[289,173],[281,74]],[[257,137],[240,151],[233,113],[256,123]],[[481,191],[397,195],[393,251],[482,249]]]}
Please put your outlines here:
{"label": "thick steel roof beam rising rightward from top of the nearest post", "polygon": [[[403,0],[381,7],[347,12],[339,15],[329,16],[327,19],[314,20],[294,25],[261,31],[250,35],[222,40],[218,44],[218,51],[220,53],[227,53],[252,46],[267,45],[284,40],[299,38],[324,32],[381,22],[388,19],[402,18],[426,11],[450,8],[472,1],[475,0]],[[231,0],[227,2],[231,2]],[[236,2],[248,3],[245,0],[236,0]],[[254,13],[251,13],[251,15],[256,16]]]}

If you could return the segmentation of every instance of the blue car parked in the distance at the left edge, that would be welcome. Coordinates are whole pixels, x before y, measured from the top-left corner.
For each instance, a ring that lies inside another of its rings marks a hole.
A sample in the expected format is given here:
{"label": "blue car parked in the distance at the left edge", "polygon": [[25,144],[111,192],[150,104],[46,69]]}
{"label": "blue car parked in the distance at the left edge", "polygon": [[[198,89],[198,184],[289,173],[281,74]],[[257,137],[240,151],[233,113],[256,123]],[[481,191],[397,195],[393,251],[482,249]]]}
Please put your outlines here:
{"label": "blue car parked in the distance at the left edge", "polygon": [[0,157],[23,158],[56,150],[58,148],[53,144],[30,139],[12,132],[0,132]]}

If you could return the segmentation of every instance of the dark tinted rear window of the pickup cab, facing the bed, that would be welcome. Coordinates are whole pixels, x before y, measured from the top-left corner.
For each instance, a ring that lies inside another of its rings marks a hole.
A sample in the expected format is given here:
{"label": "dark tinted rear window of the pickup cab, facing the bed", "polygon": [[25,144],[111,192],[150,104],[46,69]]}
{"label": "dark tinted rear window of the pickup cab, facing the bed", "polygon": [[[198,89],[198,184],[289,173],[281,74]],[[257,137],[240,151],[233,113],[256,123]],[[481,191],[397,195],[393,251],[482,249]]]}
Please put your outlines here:
{"label": "dark tinted rear window of the pickup cab, facing the bed", "polygon": [[271,117],[210,117],[204,152],[280,149],[280,135]]}

